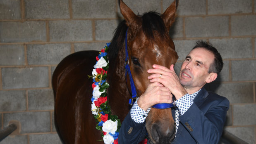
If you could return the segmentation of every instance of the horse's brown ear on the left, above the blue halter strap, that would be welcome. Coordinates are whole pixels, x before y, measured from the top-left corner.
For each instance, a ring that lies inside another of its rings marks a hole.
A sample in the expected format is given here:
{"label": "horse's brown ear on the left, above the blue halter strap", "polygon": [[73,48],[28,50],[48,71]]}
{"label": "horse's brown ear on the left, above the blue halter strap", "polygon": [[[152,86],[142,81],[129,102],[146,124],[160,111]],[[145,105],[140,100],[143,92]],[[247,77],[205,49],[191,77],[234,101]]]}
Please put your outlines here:
{"label": "horse's brown ear on the left, above the blue halter strap", "polygon": [[120,11],[126,21],[126,25],[130,28],[130,30],[132,30],[132,33],[135,33],[135,31],[141,25],[141,18],[134,14],[132,9],[125,5],[125,3],[122,0],[119,0],[119,5]]}

